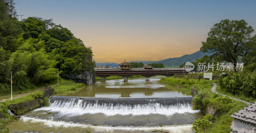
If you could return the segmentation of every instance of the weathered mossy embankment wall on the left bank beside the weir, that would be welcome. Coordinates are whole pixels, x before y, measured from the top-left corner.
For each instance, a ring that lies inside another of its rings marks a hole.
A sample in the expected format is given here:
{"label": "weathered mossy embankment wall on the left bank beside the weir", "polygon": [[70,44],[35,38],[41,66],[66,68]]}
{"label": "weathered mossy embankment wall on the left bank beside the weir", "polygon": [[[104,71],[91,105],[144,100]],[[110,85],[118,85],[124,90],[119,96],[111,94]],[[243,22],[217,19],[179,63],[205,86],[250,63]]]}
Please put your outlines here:
{"label": "weathered mossy embankment wall on the left bank beside the weir", "polygon": [[52,87],[45,87],[44,96],[42,98],[37,98],[34,100],[29,100],[29,101],[25,101],[25,102],[17,103],[17,104],[11,104],[8,106],[8,108],[15,115],[20,114],[20,113],[26,113],[30,110],[39,108],[41,106],[40,99],[43,99],[45,97],[49,98],[52,95],[53,91],[54,91],[54,89]]}

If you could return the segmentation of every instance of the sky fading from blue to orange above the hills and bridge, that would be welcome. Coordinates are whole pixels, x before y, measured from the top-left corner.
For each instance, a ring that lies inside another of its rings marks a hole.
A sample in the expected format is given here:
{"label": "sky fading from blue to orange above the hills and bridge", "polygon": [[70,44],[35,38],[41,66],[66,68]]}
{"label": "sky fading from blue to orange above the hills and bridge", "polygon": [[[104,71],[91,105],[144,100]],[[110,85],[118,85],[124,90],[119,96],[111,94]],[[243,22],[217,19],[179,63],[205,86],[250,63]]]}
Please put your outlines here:
{"label": "sky fading from blue to orange above the hills and bridge", "polygon": [[192,54],[200,50],[213,25],[225,19],[243,19],[256,30],[255,0],[14,2],[22,19],[53,19],[68,28],[92,47],[97,63],[158,61]]}

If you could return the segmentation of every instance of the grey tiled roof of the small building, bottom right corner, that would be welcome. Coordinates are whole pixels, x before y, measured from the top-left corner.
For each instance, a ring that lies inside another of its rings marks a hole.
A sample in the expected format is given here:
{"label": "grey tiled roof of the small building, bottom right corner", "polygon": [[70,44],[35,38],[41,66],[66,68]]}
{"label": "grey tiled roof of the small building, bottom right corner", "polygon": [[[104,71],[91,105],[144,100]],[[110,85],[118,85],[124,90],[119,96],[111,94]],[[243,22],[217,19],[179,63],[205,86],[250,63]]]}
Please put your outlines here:
{"label": "grey tiled roof of the small building, bottom right corner", "polygon": [[242,108],[230,115],[239,120],[247,121],[256,124],[256,104],[255,102]]}

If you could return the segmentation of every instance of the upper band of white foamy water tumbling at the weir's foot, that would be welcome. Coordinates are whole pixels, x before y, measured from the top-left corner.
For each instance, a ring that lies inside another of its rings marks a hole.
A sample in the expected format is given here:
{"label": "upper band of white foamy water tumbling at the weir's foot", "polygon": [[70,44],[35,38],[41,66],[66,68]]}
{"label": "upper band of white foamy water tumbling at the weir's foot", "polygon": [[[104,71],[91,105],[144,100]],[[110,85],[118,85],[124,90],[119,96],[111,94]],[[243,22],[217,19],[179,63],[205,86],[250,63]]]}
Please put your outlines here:
{"label": "upper band of white foamy water tumbling at the weir's foot", "polygon": [[170,116],[174,113],[199,113],[199,110],[192,110],[190,104],[177,104],[163,106],[158,103],[147,104],[147,105],[116,105],[113,104],[81,104],[82,100],[75,103],[75,100],[70,100],[69,102],[58,102],[54,101],[49,107],[38,108],[34,111],[45,110],[49,112],[59,112],[62,114],[69,115],[81,115],[81,114],[95,114],[103,113],[107,116],[113,115],[148,115],[148,114],[162,114]]}

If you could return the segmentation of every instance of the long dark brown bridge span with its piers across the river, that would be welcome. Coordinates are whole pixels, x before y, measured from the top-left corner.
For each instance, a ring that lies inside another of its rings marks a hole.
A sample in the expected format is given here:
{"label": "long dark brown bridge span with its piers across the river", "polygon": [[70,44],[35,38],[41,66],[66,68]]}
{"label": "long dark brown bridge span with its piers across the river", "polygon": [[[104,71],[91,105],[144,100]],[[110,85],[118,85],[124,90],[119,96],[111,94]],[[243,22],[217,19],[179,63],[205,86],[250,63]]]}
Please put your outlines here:
{"label": "long dark brown bridge span with its piers across the river", "polygon": [[175,75],[175,74],[188,74],[184,68],[131,68],[131,69],[119,69],[119,68],[108,68],[108,69],[94,69],[95,75],[102,78],[102,81],[105,81],[105,77],[111,75],[117,75],[124,77],[124,81],[127,81],[128,77],[132,75],[141,75],[148,78],[154,75],[163,75],[166,77]]}

